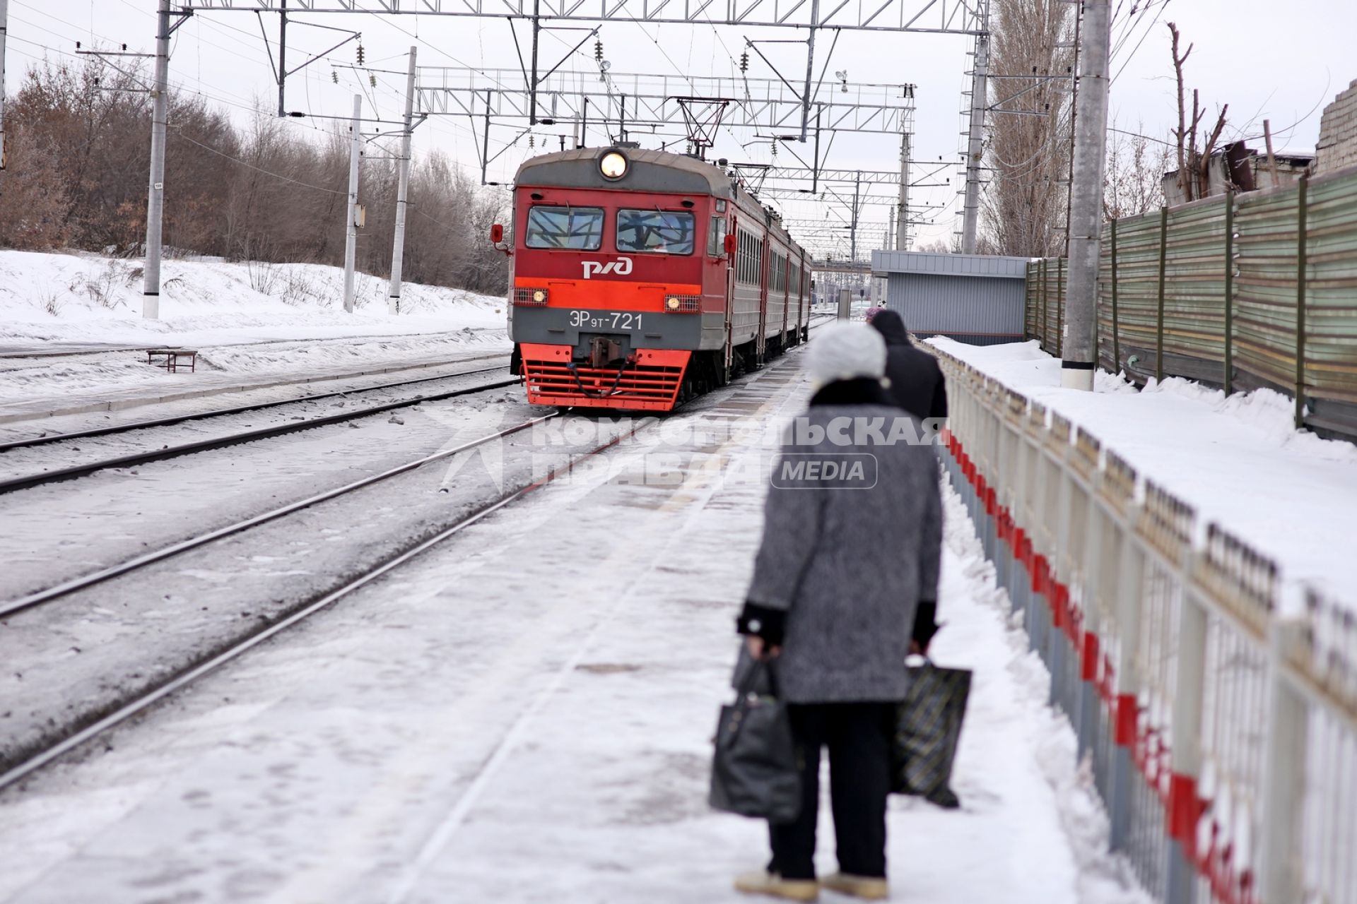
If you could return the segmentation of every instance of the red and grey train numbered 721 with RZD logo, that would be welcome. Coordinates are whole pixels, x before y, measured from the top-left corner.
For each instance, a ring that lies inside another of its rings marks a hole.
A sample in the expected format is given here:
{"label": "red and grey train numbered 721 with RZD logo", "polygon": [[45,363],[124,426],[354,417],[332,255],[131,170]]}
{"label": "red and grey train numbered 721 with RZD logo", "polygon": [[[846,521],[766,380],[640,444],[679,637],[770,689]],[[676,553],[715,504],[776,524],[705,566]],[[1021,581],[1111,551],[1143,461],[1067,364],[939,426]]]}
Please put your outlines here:
{"label": "red and grey train numbered 721 with RZD logo", "polygon": [[806,337],[806,253],[738,180],[581,148],[514,180],[509,335],[535,405],[669,411]]}

